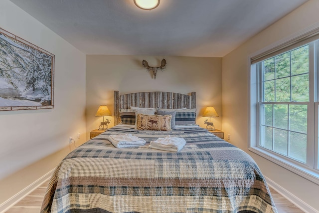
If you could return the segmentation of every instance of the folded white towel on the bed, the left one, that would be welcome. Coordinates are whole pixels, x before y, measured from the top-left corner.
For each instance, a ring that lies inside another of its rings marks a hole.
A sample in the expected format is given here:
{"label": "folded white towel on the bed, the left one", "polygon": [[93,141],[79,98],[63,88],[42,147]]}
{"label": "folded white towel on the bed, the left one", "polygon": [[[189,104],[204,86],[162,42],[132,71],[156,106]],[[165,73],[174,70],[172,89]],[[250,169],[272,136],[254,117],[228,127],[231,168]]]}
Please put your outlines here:
{"label": "folded white towel on the bed, the left one", "polygon": [[136,147],[146,143],[145,140],[132,134],[109,135],[108,139],[117,148]]}

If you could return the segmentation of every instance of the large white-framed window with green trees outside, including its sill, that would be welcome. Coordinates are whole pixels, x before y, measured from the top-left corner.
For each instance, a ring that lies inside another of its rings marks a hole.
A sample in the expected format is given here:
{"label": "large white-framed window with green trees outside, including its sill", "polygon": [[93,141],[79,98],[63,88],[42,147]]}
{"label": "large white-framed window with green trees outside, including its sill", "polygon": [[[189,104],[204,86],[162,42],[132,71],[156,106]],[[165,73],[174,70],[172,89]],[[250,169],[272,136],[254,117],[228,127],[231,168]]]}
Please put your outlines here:
{"label": "large white-framed window with green trees outside, including its sill", "polygon": [[252,58],[249,150],[319,183],[319,42],[315,39]]}

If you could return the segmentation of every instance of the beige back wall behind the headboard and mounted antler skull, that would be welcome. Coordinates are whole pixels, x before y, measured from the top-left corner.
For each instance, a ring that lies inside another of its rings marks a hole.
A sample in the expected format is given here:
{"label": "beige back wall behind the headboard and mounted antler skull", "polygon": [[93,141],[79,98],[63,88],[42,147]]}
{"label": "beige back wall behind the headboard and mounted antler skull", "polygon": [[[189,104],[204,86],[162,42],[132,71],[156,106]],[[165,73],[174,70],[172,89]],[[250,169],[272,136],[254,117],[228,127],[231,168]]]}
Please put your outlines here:
{"label": "beige back wall behind the headboard and mounted antler skull", "polygon": [[[158,66],[165,58],[167,65],[156,79],[142,65]],[[212,118],[215,128],[221,128],[221,58],[175,57],[175,56],[86,56],[86,119],[89,132],[99,127],[103,118],[94,117],[99,105],[108,105],[114,112],[114,90],[120,94],[142,91],[196,92],[197,124],[203,125],[201,117],[205,106],[214,106],[220,117]],[[111,126],[114,117],[110,117]],[[207,119],[207,118],[206,118]]]}

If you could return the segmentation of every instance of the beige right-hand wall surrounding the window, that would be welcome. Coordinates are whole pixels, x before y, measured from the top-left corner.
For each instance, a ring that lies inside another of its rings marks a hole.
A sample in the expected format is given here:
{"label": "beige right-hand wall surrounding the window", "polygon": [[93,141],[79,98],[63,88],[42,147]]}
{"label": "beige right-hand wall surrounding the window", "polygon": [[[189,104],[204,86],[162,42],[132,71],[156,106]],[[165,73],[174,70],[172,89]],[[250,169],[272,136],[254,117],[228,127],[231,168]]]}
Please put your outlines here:
{"label": "beige right-hand wall surrounding the window", "polygon": [[231,143],[248,152],[263,174],[297,196],[312,208],[319,210],[319,186],[248,151],[249,109],[249,55],[278,42],[306,27],[319,23],[319,1],[310,0],[264,31],[249,39],[223,57],[222,100],[223,131],[231,134]]}

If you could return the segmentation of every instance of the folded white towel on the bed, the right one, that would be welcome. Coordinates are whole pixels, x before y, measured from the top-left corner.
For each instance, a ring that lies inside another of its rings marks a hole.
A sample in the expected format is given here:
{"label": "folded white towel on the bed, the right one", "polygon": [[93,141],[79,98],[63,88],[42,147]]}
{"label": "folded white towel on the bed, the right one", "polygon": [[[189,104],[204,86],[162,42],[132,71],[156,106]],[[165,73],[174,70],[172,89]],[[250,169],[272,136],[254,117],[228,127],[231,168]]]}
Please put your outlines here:
{"label": "folded white towel on the bed, the right one", "polygon": [[170,137],[170,135],[165,138],[159,138],[156,141],[151,141],[150,148],[165,150],[170,152],[178,152],[181,150],[186,144],[185,139]]}

